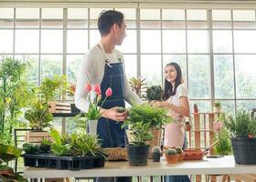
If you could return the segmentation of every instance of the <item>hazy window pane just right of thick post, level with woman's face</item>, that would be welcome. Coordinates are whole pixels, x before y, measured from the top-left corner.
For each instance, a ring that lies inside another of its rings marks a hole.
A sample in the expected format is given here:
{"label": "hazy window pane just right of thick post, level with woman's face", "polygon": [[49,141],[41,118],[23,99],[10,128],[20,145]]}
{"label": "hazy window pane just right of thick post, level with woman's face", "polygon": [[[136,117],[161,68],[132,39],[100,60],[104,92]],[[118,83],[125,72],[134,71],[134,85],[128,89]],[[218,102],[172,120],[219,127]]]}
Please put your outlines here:
{"label": "hazy window pane just right of thick post, level with woman's face", "polygon": [[234,98],[232,56],[214,56],[214,86],[216,98]]}

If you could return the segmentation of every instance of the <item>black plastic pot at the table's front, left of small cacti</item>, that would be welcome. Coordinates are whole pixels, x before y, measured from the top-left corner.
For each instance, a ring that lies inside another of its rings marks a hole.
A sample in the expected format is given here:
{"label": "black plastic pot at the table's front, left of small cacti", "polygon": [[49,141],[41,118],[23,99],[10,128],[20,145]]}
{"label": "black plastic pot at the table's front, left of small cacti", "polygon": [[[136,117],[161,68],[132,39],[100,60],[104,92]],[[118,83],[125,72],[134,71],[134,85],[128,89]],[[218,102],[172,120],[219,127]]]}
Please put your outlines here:
{"label": "black plastic pot at the table's front, left of small cacti", "polygon": [[130,166],[147,166],[147,158],[150,146],[127,145]]}

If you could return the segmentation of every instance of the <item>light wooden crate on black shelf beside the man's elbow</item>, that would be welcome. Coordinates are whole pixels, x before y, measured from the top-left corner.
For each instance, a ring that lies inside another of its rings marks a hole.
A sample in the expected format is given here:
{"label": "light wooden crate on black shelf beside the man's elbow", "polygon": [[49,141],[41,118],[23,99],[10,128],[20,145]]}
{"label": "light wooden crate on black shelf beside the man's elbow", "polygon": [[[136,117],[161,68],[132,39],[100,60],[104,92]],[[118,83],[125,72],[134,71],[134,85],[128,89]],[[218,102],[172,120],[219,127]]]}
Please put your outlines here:
{"label": "light wooden crate on black shelf beside the man's elbow", "polygon": [[71,113],[71,106],[69,103],[49,101],[48,111],[50,113]]}

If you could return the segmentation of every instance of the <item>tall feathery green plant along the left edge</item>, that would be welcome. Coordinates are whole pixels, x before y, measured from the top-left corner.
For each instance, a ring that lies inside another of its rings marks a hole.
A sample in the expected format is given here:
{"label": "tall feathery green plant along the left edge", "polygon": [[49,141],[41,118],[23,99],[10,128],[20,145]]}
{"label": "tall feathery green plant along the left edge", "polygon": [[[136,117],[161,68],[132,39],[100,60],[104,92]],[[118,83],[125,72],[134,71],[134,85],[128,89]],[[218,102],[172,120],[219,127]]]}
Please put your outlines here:
{"label": "tall feathery green plant along the left edge", "polygon": [[4,143],[11,143],[13,127],[22,123],[18,120],[21,108],[33,100],[33,89],[25,79],[28,66],[28,61],[0,58],[0,139]]}

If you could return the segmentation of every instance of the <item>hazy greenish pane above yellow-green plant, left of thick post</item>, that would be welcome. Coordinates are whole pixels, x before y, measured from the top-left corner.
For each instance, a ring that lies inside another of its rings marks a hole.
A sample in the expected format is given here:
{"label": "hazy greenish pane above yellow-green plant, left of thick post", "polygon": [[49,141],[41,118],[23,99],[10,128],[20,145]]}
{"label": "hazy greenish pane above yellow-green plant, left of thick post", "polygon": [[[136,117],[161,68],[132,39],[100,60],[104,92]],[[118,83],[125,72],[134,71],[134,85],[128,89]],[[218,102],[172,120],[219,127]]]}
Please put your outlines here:
{"label": "hazy greenish pane above yellow-green plant, left of thick post", "polygon": [[62,56],[59,55],[44,55],[41,56],[41,80],[44,77],[62,74]]}

